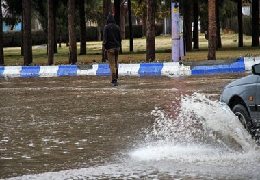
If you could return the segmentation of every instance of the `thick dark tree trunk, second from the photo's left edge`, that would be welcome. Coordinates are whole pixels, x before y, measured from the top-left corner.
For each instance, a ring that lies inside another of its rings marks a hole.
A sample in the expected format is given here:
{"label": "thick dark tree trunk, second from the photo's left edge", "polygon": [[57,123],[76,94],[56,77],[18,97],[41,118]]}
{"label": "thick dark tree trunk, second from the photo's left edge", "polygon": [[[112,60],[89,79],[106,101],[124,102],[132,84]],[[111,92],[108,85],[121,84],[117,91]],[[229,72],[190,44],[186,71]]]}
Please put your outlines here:
{"label": "thick dark tree trunk, second from the photo's left edge", "polygon": [[23,0],[23,64],[32,63],[31,47],[31,0]]}

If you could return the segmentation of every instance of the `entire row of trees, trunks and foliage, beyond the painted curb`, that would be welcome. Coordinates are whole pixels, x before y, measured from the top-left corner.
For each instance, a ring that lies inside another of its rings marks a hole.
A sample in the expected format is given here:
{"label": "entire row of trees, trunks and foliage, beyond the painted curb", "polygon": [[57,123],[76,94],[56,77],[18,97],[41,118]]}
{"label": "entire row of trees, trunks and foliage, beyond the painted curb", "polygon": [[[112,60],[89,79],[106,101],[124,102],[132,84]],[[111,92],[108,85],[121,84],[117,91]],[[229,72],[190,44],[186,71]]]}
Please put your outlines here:
{"label": "entire row of trees, trunks and foliage, beyond the painted curb", "polygon": [[[127,10],[125,9],[125,2]],[[114,12],[116,23],[122,29],[124,37],[125,18],[129,14],[130,27],[130,51],[133,51],[133,38],[131,36],[131,10],[135,16],[142,18],[143,31],[146,34],[146,60],[155,60],[155,18],[170,16],[171,2],[166,0],[114,0]],[[2,4],[2,1],[0,0]],[[183,37],[186,41],[186,50],[199,49],[198,22],[205,37],[209,41],[208,60],[216,59],[216,49],[221,48],[220,23],[224,24],[227,18],[237,16],[239,29],[238,46],[243,47],[243,18],[242,3],[252,3],[252,46],[259,46],[259,1],[257,0],[182,0],[181,15],[183,16]],[[108,14],[112,11],[110,0],[6,0],[5,21],[13,27],[19,21],[22,22],[21,55],[24,56],[24,64],[32,62],[31,48],[31,16],[38,14],[38,19],[44,31],[48,33],[48,64],[54,63],[53,54],[57,53],[57,33],[68,33],[69,64],[77,63],[77,42],[75,28],[78,25],[81,33],[80,55],[86,55],[86,18],[94,21],[99,27],[106,23]],[[235,5],[237,10],[234,10]],[[2,11],[2,9],[1,9]],[[192,13],[193,12],[193,13]],[[2,25],[2,12],[0,23]],[[193,32],[192,32],[192,22]],[[0,28],[0,65],[4,65],[3,59],[3,32]]]}

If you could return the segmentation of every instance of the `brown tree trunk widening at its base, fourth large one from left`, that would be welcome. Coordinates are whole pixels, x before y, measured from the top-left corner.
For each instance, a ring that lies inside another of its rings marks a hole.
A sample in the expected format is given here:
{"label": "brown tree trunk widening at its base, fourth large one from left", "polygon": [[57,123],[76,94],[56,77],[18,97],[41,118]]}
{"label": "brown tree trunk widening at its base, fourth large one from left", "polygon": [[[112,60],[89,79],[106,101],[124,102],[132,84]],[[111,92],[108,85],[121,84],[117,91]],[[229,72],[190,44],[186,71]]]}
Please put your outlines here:
{"label": "brown tree trunk widening at its base, fourth large one from left", "polygon": [[75,1],[68,0],[69,64],[77,62],[77,40],[75,33]]}

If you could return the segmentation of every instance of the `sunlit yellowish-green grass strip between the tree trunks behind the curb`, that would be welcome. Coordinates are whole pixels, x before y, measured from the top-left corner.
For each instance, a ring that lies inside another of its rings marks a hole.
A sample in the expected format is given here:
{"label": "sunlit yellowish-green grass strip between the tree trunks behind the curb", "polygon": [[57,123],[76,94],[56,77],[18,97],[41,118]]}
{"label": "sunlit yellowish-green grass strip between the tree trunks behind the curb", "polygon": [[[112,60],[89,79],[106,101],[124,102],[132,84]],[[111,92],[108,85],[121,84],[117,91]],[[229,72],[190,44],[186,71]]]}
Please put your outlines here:
{"label": "sunlit yellowish-green grass strip between the tree trunks behind the curb", "polygon": [[[244,35],[244,47],[237,47],[237,34],[222,34],[222,48],[216,51],[217,60],[244,57],[246,55],[260,55],[259,47],[251,47],[251,36]],[[101,43],[87,42],[87,55],[78,55],[79,64],[101,63]],[[185,61],[207,60],[207,40],[200,34],[200,49],[187,52],[183,58]],[[155,40],[156,60],[158,62],[171,61],[171,37],[158,36]],[[119,56],[120,63],[146,62],[146,38],[133,40],[134,52],[129,52],[129,40],[122,40],[122,55]],[[77,43],[79,53],[79,43]],[[4,48],[5,66],[23,65],[23,57],[20,55],[20,47]],[[33,47],[33,65],[47,65],[46,48]],[[58,53],[54,56],[55,65],[68,64],[68,47],[62,44]]]}

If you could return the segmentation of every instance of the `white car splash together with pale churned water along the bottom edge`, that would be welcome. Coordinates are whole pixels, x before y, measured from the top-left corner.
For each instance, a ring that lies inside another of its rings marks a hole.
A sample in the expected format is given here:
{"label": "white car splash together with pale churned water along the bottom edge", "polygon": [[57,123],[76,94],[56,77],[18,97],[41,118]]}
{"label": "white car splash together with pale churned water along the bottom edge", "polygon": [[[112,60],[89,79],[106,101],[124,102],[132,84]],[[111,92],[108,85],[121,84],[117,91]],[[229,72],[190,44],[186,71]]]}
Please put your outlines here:
{"label": "white car splash together with pale churned water along the bottom edge", "polygon": [[146,143],[120,162],[11,179],[259,179],[259,147],[229,107],[198,93],[179,101],[151,112]]}

